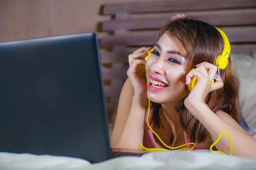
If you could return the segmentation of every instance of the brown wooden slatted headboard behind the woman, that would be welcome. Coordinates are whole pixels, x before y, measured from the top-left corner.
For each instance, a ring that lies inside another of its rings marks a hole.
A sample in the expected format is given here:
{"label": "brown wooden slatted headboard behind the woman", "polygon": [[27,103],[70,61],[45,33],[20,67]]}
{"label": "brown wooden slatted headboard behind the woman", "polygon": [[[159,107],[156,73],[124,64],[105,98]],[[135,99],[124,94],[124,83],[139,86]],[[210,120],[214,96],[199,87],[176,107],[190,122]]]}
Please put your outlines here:
{"label": "brown wooden slatted headboard behind the woman", "polygon": [[[230,40],[231,53],[256,52],[256,0],[169,0],[104,5],[113,19],[102,23],[109,35],[101,39],[102,74],[109,118],[117,107],[127,78],[128,55],[157,41],[158,29],[177,13],[221,28]],[[105,48],[105,49],[104,49]]]}

